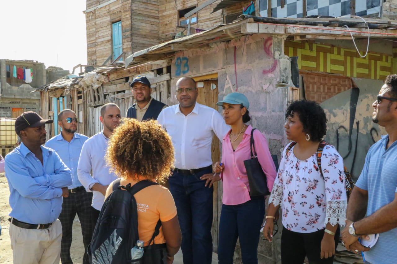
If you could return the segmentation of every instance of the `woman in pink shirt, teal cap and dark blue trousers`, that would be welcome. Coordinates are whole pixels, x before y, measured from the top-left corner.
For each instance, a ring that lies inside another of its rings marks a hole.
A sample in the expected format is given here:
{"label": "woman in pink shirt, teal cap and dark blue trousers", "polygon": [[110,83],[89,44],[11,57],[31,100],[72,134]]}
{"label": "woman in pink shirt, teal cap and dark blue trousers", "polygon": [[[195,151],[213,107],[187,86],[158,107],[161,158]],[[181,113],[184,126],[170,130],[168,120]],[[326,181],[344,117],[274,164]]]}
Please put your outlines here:
{"label": "woman in pink shirt, teal cap and dark blue trousers", "polygon": [[[223,181],[218,261],[219,264],[233,263],[234,249],[239,238],[243,263],[258,263],[259,230],[265,214],[265,197],[250,196],[244,166],[244,160],[250,159],[252,127],[245,124],[251,120],[249,102],[243,94],[231,93],[217,105],[222,105],[225,122],[231,126],[223,139],[222,163],[216,163],[213,168],[214,172],[220,173],[220,176],[217,174],[214,178],[222,178]],[[258,161],[271,191],[276,178],[276,167],[268,142],[259,130],[254,130],[253,136]]]}

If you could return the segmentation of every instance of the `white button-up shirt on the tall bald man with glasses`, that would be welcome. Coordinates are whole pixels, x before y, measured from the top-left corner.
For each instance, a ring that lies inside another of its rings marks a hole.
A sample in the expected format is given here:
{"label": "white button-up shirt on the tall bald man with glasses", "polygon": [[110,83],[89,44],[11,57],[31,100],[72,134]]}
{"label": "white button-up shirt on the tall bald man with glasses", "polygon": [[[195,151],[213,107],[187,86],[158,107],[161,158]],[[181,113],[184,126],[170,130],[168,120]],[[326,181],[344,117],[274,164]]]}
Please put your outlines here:
{"label": "white button-up shirt on the tall bald man with glasses", "polygon": [[218,111],[197,102],[187,116],[181,113],[177,104],[163,109],[157,121],[171,136],[175,149],[175,168],[183,170],[211,165],[214,134],[222,140],[230,130]]}

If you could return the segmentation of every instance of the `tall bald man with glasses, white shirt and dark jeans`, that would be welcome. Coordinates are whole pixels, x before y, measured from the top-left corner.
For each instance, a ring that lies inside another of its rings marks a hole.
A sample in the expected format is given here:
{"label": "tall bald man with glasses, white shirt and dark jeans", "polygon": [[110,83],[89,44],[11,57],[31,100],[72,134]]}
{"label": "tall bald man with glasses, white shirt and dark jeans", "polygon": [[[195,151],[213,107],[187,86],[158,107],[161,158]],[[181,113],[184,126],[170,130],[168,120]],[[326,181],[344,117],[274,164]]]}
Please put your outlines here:
{"label": "tall bald man with glasses, white shirt and dark jeans", "polygon": [[196,102],[195,80],[182,77],[176,83],[179,104],[163,109],[157,121],[167,130],[175,148],[175,170],[170,191],[182,231],[184,264],[207,264],[212,260],[212,193],[205,174],[212,173],[211,143],[222,140],[229,126],[216,111]]}

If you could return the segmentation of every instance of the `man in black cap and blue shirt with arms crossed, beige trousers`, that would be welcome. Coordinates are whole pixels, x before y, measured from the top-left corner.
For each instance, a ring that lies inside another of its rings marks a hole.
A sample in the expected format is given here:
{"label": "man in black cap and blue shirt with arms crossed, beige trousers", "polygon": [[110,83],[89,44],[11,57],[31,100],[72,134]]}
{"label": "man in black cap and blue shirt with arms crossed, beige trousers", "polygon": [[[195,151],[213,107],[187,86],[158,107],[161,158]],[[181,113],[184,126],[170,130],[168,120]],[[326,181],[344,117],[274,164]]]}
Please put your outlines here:
{"label": "man in black cap and blue shirt with arms crossed, beige trousers", "polygon": [[45,124],[52,122],[31,111],[15,120],[22,143],[5,159],[14,264],[59,264],[62,227],[57,218],[72,179],[58,154],[42,146]]}

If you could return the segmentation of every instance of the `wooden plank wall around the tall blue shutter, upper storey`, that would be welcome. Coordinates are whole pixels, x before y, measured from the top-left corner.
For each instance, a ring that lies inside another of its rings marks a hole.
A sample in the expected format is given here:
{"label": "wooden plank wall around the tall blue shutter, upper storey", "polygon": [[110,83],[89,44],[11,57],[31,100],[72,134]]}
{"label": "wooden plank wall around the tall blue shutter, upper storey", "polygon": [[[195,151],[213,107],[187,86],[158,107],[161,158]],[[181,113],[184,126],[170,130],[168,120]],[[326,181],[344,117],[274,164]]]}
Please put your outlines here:
{"label": "wooden plank wall around the tall blue shutter, upper storey", "polygon": [[[87,8],[106,1],[87,0]],[[88,65],[102,65],[112,55],[112,23],[121,20],[123,52],[131,54],[131,1],[119,1],[85,14]],[[109,61],[108,63],[110,63]]]}

